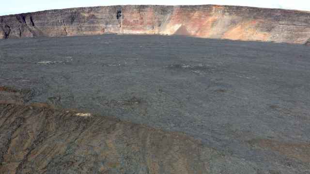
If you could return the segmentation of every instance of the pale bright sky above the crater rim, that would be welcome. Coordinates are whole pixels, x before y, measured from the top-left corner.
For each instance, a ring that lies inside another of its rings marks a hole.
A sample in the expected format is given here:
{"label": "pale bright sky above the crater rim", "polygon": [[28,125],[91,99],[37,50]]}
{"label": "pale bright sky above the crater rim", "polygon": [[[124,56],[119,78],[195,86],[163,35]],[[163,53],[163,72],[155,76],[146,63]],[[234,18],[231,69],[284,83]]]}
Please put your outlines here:
{"label": "pale bright sky above the crater rim", "polygon": [[[106,5],[241,5],[310,11],[310,0],[0,0],[0,15]],[[5,2],[4,2],[5,1]]]}

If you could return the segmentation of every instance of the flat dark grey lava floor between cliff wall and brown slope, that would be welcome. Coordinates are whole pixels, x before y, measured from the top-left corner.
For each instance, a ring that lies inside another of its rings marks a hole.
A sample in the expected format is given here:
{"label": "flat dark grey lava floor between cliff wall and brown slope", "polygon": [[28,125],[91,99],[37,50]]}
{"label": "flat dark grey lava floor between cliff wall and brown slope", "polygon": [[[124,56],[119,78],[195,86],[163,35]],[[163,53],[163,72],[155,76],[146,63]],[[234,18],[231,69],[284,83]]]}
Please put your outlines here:
{"label": "flat dark grey lava floor between cliff wall and brown slope", "polygon": [[158,35],[0,40],[0,86],[31,91],[28,103],[185,132],[270,174],[310,173],[309,46]]}

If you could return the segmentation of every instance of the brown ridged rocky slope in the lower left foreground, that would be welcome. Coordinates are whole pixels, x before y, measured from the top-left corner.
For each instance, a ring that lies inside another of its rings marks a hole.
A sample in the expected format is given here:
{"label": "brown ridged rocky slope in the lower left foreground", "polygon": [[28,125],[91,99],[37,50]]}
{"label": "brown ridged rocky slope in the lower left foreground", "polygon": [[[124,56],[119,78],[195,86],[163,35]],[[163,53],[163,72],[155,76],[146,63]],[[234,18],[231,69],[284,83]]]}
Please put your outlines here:
{"label": "brown ridged rocky slope in the lower left foreground", "polygon": [[[1,174],[257,174],[178,132],[104,116],[25,105],[29,90],[0,87]],[[26,97],[26,98],[25,98]],[[226,173],[225,173],[226,174]]]}

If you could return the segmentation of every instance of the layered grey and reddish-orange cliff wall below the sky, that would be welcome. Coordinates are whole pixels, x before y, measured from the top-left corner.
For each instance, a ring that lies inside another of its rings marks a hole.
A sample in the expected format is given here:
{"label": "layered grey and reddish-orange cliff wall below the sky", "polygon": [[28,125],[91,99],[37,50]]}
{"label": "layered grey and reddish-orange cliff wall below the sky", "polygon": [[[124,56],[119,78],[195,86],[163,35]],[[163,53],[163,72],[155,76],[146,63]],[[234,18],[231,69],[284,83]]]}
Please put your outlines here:
{"label": "layered grey and reddish-orange cliff wall below the sky", "polygon": [[126,5],[0,16],[0,38],[4,39],[104,33],[306,44],[310,39],[310,13],[217,5]]}

